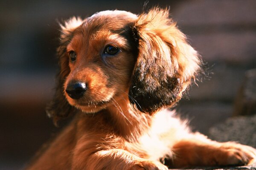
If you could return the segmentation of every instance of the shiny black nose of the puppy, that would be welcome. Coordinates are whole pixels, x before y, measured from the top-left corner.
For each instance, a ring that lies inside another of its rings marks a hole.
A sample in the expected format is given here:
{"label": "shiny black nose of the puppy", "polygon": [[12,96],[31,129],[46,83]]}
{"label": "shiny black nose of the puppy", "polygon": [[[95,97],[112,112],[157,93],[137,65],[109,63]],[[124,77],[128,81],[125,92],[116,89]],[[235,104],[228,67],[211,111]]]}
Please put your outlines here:
{"label": "shiny black nose of the puppy", "polygon": [[84,95],[87,87],[84,82],[70,82],[66,92],[72,99],[79,99]]}

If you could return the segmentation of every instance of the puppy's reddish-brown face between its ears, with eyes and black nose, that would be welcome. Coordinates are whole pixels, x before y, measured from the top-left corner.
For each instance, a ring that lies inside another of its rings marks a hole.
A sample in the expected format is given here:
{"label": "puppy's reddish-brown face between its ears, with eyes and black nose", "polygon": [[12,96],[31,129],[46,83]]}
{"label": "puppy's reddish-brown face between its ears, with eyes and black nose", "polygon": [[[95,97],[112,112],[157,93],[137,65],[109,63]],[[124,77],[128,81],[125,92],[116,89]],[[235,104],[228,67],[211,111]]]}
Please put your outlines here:
{"label": "puppy's reddish-brown face between its ears, with eyes and black nose", "polygon": [[127,96],[137,51],[130,27],[135,18],[128,12],[102,12],[73,31],[63,91],[70,105],[95,113]]}

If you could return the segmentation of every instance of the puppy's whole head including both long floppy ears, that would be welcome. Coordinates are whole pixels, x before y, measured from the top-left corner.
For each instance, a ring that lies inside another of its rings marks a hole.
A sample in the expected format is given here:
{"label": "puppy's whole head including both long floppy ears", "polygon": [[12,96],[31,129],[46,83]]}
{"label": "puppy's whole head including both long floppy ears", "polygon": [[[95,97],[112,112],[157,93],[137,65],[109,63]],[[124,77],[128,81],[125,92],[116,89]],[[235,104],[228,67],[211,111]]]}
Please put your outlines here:
{"label": "puppy's whole head including both long floppy ears", "polygon": [[197,52],[159,8],[72,18],[60,39],[61,70],[48,107],[55,119],[76,109],[95,113],[125,96],[134,109],[152,114],[175,104],[200,70]]}

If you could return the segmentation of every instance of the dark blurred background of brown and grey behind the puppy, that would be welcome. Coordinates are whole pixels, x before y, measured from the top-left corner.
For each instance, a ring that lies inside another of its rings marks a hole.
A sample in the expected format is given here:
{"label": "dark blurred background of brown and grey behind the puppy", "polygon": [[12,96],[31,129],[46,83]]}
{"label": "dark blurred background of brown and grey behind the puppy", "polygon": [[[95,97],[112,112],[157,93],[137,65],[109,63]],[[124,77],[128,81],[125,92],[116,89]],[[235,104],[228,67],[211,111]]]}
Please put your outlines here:
{"label": "dark blurred background of brown and grey behind the puppy", "polygon": [[[61,129],[44,111],[58,70],[58,22],[108,9],[140,13],[144,2],[0,0],[0,170],[22,169]],[[256,68],[256,1],[149,0],[147,8],[155,5],[170,7],[179,28],[208,63],[212,74],[176,107],[191,119],[193,130],[208,134],[210,127],[239,114],[235,103],[241,103],[237,100],[248,82],[247,71]]]}

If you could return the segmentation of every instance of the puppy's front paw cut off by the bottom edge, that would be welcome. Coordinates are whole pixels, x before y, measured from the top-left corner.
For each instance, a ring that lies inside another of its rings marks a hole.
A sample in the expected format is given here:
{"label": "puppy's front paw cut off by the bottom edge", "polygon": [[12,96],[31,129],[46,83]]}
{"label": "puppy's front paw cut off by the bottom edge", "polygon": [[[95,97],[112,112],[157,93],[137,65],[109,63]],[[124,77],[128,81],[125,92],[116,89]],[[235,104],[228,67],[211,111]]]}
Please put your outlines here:
{"label": "puppy's front paw cut off by the bottom edge", "polygon": [[168,170],[168,168],[158,161],[140,161],[134,164],[130,170]]}

